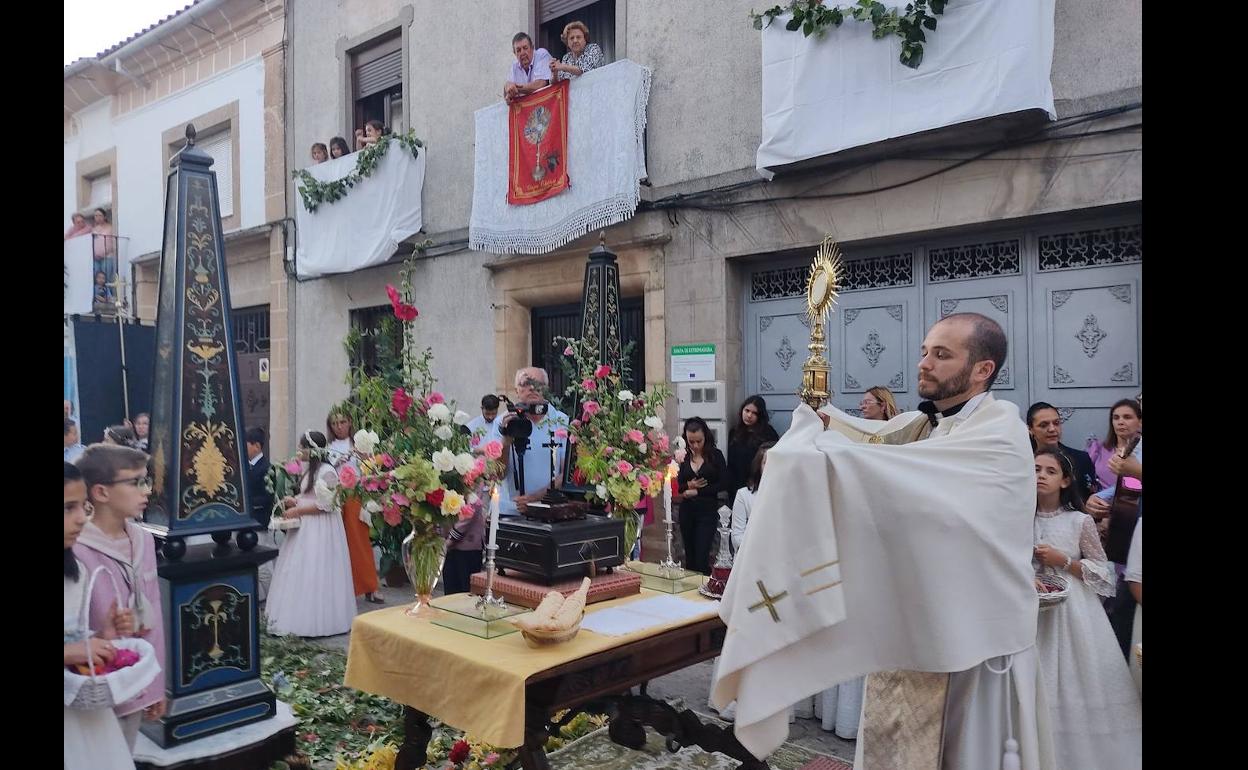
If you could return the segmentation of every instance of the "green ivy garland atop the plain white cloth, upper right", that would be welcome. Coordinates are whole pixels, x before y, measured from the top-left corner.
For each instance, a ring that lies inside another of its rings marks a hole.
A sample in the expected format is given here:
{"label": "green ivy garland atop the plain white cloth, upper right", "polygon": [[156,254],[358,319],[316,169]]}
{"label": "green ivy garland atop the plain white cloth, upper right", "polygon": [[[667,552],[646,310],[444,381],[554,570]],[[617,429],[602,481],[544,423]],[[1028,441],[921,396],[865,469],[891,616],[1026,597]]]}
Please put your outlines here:
{"label": "green ivy garland atop the plain white cloth, upper right", "polygon": [[764,19],[766,26],[770,26],[776,16],[792,14],[792,19],[784,25],[785,29],[790,32],[801,30],[806,37],[811,35],[822,37],[829,27],[840,26],[846,16],[857,21],[870,21],[874,39],[880,40],[889,35],[901,37],[901,64],[917,69],[924,60],[924,41],[927,40],[924,29],[936,29],[936,15],[942,15],[947,4],[948,0],[914,0],[906,4],[905,11],[899,11],[896,7],[889,9],[879,0],[857,0],[845,9],[839,5],[827,7],[824,0],[791,0],[787,6],[776,5],[761,14],[750,11],[750,19],[754,21],[754,29],[761,30]]}

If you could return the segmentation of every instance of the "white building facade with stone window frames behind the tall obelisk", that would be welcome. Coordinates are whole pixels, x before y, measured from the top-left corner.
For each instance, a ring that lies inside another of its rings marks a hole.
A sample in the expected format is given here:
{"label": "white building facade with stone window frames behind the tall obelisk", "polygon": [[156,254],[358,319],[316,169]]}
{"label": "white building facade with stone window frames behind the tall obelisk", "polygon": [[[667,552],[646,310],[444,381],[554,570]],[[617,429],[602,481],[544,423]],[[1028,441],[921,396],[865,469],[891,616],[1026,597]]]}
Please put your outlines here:
{"label": "white building facade with stone window frames behind the tall obelisk", "polygon": [[111,211],[141,322],[156,316],[165,177],[187,124],[213,157],[245,423],[278,454],[291,432],[285,34],[281,0],[200,0],[65,67],[65,218]]}

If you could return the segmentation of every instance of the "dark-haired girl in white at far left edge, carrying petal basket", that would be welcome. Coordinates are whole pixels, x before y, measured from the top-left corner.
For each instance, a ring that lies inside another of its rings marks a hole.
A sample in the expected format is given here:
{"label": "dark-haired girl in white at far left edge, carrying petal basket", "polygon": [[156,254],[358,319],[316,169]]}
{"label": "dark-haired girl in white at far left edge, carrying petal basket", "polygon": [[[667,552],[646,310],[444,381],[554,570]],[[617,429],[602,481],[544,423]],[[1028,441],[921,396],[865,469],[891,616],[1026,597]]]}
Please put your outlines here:
{"label": "dark-haired girl in white at far left edge, carrying petal basket", "polygon": [[[86,567],[74,557],[74,544],[86,527],[86,482],[82,472],[65,463],[65,656],[64,665],[86,665],[90,659],[104,666],[116,654],[112,643],[91,636],[82,628]],[[104,636],[116,636],[116,629],[100,629]],[[69,693],[66,693],[69,698]],[[71,709],[65,706],[65,770],[132,770],[134,759],[121,723],[112,706]]]}

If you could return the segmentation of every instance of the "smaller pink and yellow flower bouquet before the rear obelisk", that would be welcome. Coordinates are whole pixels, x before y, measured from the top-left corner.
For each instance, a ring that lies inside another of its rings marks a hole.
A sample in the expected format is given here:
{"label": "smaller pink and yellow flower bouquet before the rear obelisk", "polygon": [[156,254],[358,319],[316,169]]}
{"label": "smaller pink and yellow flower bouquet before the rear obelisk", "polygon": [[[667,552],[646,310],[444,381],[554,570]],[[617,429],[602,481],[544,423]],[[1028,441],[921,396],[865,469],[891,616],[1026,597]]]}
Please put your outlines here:
{"label": "smaller pink and yellow flower bouquet before the rear obelisk", "polygon": [[633,509],[643,495],[663,492],[671,459],[671,443],[659,417],[671,389],[661,383],[633,393],[624,384],[626,357],[614,369],[599,363],[584,339],[559,337],[555,344],[564,346],[564,369],[572,383],[567,393],[580,409],[568,437],[577,447],[573,483],[588,487],[590,502],[624,519],[625,542],[631,545],[639,532]]}

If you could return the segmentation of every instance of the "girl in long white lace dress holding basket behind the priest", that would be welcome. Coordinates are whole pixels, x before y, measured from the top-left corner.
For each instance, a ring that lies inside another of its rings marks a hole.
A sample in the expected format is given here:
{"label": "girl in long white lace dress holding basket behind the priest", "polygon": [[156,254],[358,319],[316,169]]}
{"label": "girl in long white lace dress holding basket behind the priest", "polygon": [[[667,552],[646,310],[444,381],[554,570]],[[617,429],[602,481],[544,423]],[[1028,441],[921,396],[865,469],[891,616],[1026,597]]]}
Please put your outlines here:
{"label": "girl in long white lace dress holding basket behind the priest", "polygon": [[1116,574],[1073,480],[1065,454],[1036,453],[1032,563],[1037,574],[1070,585],[1066,602],[1040,612],[1036,639],[1057,768],[1136,770],[1143,763],[1139,693],[1099,599],[1114,593]]}

